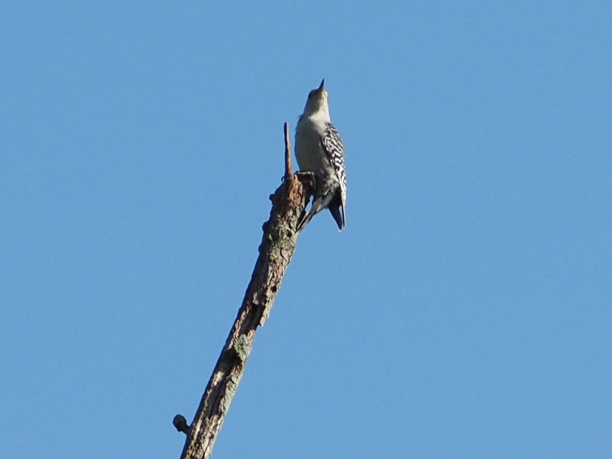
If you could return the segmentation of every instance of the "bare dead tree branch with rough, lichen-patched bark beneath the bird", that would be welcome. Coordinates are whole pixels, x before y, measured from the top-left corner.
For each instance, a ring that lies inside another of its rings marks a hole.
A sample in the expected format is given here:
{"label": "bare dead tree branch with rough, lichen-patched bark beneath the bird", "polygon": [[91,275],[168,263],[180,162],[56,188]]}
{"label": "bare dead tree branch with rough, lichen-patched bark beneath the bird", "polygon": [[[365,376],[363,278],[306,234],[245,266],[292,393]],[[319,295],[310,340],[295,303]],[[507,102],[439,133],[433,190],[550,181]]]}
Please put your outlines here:
{"label": "bare dead tree branch with rough, lichen-patched bark beneath the bird", "polygon": [[297,240],[297,222],[313,193],[308,175],[291,170],[289,127],[285,123],[285,176],[283,184],[270,196],[272,210],[263,225],[263,238],[251,281],[236,321],[204,390],[191,425],[183,416],[174,417],[174,427],[187,434],[181,459],[207,459],[225,414],[244,372],[258,326],[266,321],[291,261]]}

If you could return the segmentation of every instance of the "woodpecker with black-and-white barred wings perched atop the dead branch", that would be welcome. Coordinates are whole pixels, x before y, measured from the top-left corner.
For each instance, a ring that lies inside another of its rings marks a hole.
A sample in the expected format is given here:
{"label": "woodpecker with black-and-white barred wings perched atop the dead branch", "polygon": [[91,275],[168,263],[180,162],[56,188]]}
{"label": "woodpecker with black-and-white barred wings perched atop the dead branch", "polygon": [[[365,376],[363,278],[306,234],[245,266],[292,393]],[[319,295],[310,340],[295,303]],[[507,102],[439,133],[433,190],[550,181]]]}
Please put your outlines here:
{"label": "woodpecker with black-and-white barred wings perched atop the dead branch", "polygon": [[341,231],[345,227],[346,171],[340,134],[329,119],[325,80],[308,94],[304,113],[297,121],[296,158],[300,171],[313,173],[315,196],[310,211],[300,220],[302,230],[310,219],[327,208]]}

